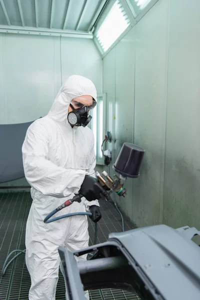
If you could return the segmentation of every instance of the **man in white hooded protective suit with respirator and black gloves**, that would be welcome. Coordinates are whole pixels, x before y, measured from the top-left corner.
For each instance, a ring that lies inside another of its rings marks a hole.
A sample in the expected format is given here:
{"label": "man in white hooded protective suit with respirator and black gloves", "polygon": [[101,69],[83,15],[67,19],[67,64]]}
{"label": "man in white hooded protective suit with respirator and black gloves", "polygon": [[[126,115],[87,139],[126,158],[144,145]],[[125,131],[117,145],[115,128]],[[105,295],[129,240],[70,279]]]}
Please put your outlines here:
{"label": "man in white hooded protective suit with respirator and black gloves", "polygon": [[[64,208],[64,213],[90,211],[95,222],[101,217],[98,183],[97,189],[93,188],[97,182],[94,138],[92,131],[83,127],[88,122],[88,110],[95,104],[93,83],[72,75],[60,88],[48,114],[34,121],[26,132],[22,157],[32,197],[25,235],[25,258],[31,277],[29,300],[55,299],[58,246],[66,246],[71,251],[88,246],[86,215],[47,224],[43,222],[45,216],[81,191],[86,199],[73,202]],[[56,215],[61,214],[59,211]],[[86,255],[77,259],[86,259]],[[89,298],[88,291],[85,297]]]}

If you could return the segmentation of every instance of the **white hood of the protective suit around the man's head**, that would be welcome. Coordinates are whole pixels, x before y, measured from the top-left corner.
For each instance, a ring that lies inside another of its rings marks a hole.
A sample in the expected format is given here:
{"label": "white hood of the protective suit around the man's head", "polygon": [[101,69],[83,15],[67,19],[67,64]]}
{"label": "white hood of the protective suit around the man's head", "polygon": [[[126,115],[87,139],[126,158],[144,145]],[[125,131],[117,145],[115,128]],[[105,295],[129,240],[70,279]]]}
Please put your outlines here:
{"label": "white hood of the protective suit around the man's head", "polygon": [[69,125],[68,107],[73,98],[90,95],[97,102],[96,88],[93,82],[80,75],[69,76],[61,86],[47,114],[53,120]]}

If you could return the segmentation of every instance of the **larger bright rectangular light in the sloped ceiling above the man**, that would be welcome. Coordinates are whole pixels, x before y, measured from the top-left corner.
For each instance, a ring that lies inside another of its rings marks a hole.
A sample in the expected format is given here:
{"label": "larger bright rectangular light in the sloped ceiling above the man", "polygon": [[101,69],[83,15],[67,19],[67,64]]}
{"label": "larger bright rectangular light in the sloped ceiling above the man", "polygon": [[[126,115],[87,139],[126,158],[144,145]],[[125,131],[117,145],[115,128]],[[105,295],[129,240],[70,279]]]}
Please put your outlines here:
{"label": "larger bright rectangular light in the sloped ceiling above the man", "polygon": [[108,15],[96,32],[96,38],[104,52],[113,44],[129,24],[130,21],[120,4],[120,1],[115,1]]}

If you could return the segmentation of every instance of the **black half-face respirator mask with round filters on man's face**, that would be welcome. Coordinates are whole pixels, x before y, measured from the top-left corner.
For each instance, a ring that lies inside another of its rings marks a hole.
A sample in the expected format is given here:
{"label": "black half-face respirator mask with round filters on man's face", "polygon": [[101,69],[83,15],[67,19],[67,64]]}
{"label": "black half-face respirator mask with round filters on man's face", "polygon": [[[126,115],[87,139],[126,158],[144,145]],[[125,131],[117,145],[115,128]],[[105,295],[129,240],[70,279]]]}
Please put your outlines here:
{"label": "black half-face respirator mask with round filters on man's face", "polygon": [[67,115],[68,122],[71,126],[85,127],[91,120],[92,116],[87,113],[87,105],[75,109],[72,104],[69,104],[73,111]]}

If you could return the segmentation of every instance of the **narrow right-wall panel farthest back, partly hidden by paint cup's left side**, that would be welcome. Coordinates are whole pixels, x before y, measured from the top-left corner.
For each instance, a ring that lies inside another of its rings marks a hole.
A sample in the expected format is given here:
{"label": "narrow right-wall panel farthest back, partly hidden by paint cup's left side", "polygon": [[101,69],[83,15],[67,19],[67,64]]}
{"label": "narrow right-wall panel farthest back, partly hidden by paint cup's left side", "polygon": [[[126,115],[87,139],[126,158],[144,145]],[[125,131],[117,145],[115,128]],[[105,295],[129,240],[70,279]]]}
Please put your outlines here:
{"label": "narrow right-wall panel farthest back, partly hidden by paint cup's left side", "polygon": [[[116,119],[115,159],[124,142],[133,142],[134,129],[134,63],[135,28],[131,29],[116,45]],[[114,160],[115,160],[114,159]],[[114,161],[113,161],[114,162]],[[126,214],[132,216],[132,179],[127,179],[127,195],[118,197],[118,203]]]}

